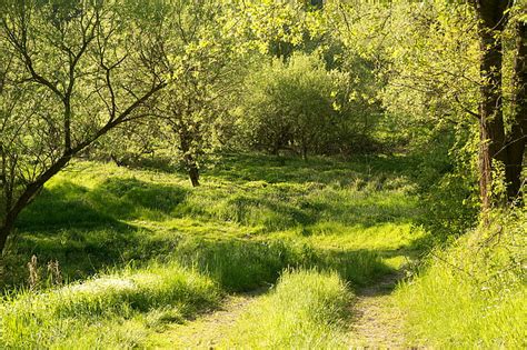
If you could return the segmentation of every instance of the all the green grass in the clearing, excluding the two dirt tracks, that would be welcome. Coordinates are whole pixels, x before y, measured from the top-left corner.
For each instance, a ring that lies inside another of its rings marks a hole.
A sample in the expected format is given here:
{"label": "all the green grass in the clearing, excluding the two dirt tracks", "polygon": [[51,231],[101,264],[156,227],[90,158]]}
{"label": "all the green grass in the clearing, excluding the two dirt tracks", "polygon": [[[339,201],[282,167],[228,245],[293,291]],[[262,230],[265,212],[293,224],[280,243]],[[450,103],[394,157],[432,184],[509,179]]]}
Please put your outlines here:
{"label": "all the green grass in the clearing, excluding the two dirt tracks", "polygon": [[521,347],[523,212],[500,223],[507,244],[477,259],[479,231],[425,259],[408,168],[405,157],[231,154],[191,188],[175,169],[76,161],[23,212],[3,257],[2,347],[178,348],[175,324],[262,290],[218,348],[344,349],[357,291],[402,269],[394,302],[409,346]]}

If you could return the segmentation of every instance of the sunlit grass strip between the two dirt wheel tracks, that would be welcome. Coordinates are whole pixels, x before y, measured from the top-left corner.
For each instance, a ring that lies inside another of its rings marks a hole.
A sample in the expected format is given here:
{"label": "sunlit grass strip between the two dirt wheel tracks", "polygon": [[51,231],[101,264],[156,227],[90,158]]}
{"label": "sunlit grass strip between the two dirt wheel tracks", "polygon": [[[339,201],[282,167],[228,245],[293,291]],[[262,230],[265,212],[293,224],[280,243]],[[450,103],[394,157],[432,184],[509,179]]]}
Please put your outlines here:
{"label": "sunlit grass strip between the two dirt wheel tracks", "polygon": [[274,291],[240,317],[220,348],[346,348],[351,293],[336,273],[286,271]]}

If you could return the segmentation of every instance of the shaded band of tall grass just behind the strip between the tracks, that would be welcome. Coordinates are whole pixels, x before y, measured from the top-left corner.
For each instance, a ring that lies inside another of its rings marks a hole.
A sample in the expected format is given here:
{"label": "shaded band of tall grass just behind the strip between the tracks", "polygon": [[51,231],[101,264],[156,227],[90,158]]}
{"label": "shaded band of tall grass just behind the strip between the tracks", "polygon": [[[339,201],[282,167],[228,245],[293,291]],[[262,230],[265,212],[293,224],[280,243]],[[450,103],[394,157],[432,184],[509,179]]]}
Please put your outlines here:
{"label": "shaded band of tall grass just behind the strip between the tracks", "polygon": [[356,286],[392,271],[375,251],[319,249],[292,239],[209,241],[187,238],[170,256],[235,292],[274,283],[287,268],[337,271]]}

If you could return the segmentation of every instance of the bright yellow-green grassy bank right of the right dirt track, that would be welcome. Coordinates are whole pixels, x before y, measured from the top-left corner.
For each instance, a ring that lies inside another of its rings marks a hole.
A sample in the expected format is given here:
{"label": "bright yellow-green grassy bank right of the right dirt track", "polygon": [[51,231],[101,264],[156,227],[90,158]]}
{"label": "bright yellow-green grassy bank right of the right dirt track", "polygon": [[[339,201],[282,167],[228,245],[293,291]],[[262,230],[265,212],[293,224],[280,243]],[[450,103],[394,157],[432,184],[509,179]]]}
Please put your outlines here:
{"label": "bright yellow-green grassy bank right of the right dirt track", "polygon": [[436,249],[397,292],[409,338],[438,349],[527,347],[525,210]]}

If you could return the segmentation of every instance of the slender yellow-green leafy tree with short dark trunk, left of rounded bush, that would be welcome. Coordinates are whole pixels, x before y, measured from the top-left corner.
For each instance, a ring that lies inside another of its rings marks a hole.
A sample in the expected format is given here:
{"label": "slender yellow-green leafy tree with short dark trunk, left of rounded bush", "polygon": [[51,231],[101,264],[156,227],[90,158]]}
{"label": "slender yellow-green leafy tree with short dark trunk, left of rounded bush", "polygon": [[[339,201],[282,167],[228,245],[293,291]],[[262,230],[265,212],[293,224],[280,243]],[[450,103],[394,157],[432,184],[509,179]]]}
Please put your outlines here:
{"label": "slender yellow-green leafy tree with short dark trunk, left of rounded bush", "polygon": [[242,66],[235,10],[227,2],[190,0],[166,1],[160,9],[159,60],[168,86],[151,107],[168,126],[167,138],[193,187],[199,186],[199,163],[212,147],[215,121],[226,111]]}

